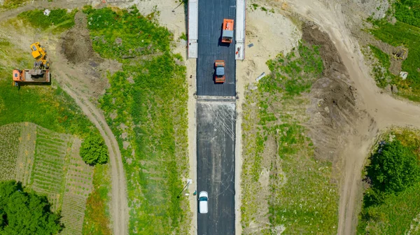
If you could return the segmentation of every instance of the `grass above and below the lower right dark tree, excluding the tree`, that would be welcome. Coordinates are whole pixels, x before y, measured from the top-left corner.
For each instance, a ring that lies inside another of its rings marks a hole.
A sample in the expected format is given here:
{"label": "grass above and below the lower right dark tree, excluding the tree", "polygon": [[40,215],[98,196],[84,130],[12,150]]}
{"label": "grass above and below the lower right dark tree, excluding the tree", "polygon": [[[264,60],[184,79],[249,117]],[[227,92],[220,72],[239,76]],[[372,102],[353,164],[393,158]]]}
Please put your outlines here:
{"label": "grass above and below the lower right dark tree, excluding the tree", "polygon": [[[384,134],[384,141],[387,137],[393,136],[402,145],[408,147],[419,157],[420,132],[409,129],[393,129]],[[384,193],[381,200],[372,204],[372,187],[365,192],[365,202],[359,215],[358,234],[416,234],[415,228],[419,227],[420,217],[420,182],[413,182],[402,192]],[[368,203],[369,202],[369,203]],[[418,231],[417,231],[418,232]]]}

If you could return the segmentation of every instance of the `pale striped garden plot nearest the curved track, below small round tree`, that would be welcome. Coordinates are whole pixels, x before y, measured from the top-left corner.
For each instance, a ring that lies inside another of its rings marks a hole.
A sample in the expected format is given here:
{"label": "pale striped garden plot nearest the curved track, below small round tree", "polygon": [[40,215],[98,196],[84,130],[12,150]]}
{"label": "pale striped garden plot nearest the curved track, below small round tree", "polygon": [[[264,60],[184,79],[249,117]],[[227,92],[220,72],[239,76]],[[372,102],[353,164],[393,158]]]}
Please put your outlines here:
{"label": "pale striped garden plot nearest the curved track, below small round tree", "polygon": [[62,206],[62,222],[66,227],[61,234],[77,234],[82,231],[85,218],[86,199],[92,192],[92,166],[88,166],[78,155],[81,142],[73,141],[71,155],[66,161],[67,175]]}

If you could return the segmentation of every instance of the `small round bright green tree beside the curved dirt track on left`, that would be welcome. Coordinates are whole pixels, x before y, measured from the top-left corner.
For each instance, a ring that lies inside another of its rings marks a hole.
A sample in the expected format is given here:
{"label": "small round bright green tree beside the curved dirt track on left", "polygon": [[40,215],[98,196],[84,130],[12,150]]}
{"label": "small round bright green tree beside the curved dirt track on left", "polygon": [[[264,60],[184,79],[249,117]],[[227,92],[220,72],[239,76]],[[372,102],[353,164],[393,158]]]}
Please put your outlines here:
{"label": "small round bright green tree beside the curved dirt track on left", "polygon": [[80,156],[87,164],[104,164],[108,162],[108,148],[101,136],[85,138],[80,148]]}

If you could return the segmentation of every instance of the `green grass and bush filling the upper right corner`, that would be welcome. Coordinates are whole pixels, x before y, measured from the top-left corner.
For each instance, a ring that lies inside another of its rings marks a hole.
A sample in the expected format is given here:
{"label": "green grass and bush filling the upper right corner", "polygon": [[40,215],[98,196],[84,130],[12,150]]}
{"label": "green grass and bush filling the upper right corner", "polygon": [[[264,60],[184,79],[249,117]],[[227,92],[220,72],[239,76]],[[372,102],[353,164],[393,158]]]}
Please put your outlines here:
{"label": "green grass and bush filling the upper right corner", "polygon": [[[416,17],[416,14],[420,13],[418,10],[420,3],[412,0],[396,1],[393,7],[398,21],[395,24],[386,22],[386,20],[373,22],[374,27],[370,29],[370,32],[385,43],[408,48],[408,57],[402,62],[401,68],[402,71],[408,72],[407,79],[402,80],[394,76],[392,83],[397,85],[398,94],[402,97],[420,101],[420,24]],[[381,61],[381,59],[379,60]],[[386,73],[389,71],[387,70]],[[381,86],[384,87],[383,84]]]}

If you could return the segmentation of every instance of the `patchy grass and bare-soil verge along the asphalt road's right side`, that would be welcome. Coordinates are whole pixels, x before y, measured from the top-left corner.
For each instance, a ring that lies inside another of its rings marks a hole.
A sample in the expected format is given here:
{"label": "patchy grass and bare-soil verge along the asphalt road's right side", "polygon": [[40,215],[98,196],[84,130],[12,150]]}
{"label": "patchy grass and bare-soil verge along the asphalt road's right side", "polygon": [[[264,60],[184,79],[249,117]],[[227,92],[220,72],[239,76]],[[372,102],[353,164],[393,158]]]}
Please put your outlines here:
{"label": "patchy grass and bare-soil verge along the asphalt road's right side", "polygon": [[[303,94],[323,71],[318,46],[300,44],[267,64],[272,74],[260,80],[257,90],[248,90],[244,104],[242,227],[245,234],[255,234],[251,227],[267,204],[262,216],[269,223],[260,224],[256,234],[334,234],[339,197],[337,185],[330,183],[331,163],[314,159],[313,144],[301,125],[308,120],[309,99]],[[269,191],[258,199],[266,190],[265,171]]]}

